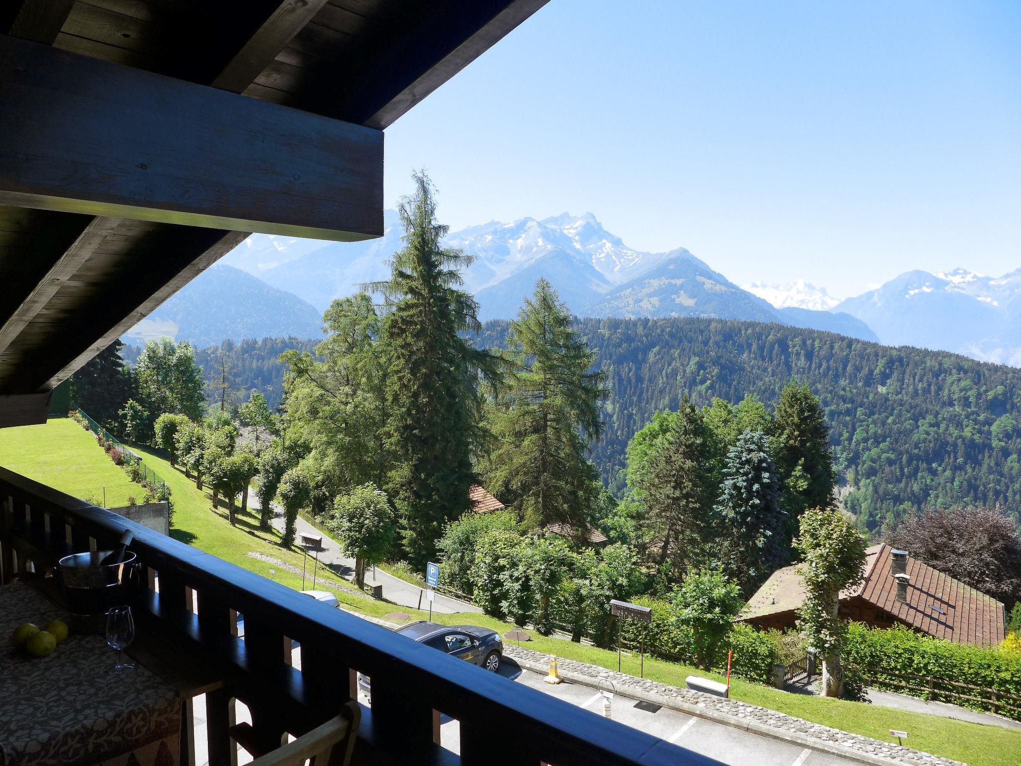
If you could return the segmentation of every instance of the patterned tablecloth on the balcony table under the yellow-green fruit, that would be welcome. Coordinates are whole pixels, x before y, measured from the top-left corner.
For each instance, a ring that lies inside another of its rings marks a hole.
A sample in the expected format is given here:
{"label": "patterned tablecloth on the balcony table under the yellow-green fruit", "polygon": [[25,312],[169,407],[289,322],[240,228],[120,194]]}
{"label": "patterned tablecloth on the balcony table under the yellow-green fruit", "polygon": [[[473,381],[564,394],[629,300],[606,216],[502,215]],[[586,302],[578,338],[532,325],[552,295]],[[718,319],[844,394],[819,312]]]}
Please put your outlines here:
{"label": "patterned tablecloth on the balcony table under the yellow-green fruit", "polygon": [[177,766],[181,692],[141,665],[108,674],[99,635],[70,635],[45,658],[10,650],[22,622],[69,622],[29,585],[0,586],[0,766]]}

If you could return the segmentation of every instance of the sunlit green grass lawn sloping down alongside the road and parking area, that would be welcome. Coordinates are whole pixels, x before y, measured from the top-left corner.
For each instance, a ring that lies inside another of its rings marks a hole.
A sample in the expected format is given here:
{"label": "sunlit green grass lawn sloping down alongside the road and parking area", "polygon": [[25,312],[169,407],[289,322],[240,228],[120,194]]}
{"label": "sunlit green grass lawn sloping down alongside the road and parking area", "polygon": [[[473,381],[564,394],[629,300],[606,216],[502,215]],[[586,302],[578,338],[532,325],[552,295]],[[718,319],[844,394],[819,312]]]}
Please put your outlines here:
{"label": "sunlit green grass lawn sloping down alongside the road and parking area", "polygon": [[[169,462],[156,451],[141,447],[137,451],[144,454],[150,468],[171,486],[175,504],[175,528],[171,534],[175,538],[289,587],[301,587],[300,574],[248,556],[250,552],[258,553],[300,569],[302,557],[297,547],[284,549],[280,534],[276,530],[260,529],[257,515],[250,511],[239,512],[238,525],[232,527],[226,508],[212,509],[208,489],[196,489],[194,480],[186,478],[181,470],[171,468]],[[85,496],[102,486],[110,487],[108,491],[111,492],[132,492],[139,498],[142,495],[142,488],[128,480],[124,470],[113,465],[92,435],[69,419],[50,420],[45,426],[0,429],[0,465],[77,496]],[[270,574],[271,569],[276,570],[275,574]],[[320,572],[324,572],[323,568]],[[383,617],[389,612],[404,612],[415,620],[428,616],[427,612],[378,602],[354,592],[350,583],[332,573],[321,575],[321,579],[324,577],[339,588],[337,597],[345,609],[375,617]],[[306,586],[311,587],[310,580]],[[433,621],[449,625],[485,625],[500,632],[509,628],[506,623],[474,613],[434,614]],[[529,649],[617,669],[616,652],[543,637],[534,632],[532,635],[533,640],[525,644]],[[637,675],[638,658],[624,657],[622,670]],[[683,686],[685,677],[696,672],[723,680],[716,674],[695,671],[685,665],[645,659],[645,676],[663,683]],[[973,766],[1021,762],[1021,731],[842,700],[791,695],[738,679],[732,681],[731,696],[883,741],[893,741],[889,729],[903,729],[911,733],[911,747]]]}

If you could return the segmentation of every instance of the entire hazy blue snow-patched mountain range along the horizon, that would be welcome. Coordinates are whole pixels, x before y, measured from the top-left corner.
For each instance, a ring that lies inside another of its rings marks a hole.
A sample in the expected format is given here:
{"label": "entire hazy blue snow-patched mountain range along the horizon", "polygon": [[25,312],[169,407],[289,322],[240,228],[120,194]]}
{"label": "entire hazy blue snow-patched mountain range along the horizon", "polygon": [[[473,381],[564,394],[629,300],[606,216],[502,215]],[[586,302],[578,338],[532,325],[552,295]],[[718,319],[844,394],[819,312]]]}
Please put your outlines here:
{"label": "entire hazy blue snow-patched mountain range along the horizon", "polygon": [[[387,210],[383,236],[363,242],[253,235],[126,338],[319,338],[320,317],[334,298],[386,279],[401,234],[397,212]],[[805,281],[739,287],[682,247],[635,250],[590,212],[493,221],[445,242],[475,256],[463,276],[483,321],[516,317],[545,277],[579,317],[776,322],[1021,366],[1021,270],[1000,278],[908,272],[839,301]]]}

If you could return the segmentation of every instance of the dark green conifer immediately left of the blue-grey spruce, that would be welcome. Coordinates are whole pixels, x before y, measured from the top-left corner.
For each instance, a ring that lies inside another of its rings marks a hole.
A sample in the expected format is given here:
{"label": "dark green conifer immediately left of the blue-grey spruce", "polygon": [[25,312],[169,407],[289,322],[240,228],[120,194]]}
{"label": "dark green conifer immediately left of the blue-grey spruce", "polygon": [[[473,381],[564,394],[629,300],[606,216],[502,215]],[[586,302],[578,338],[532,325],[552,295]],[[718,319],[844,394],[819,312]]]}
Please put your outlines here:
{"label": "dark green conifer immediately left of the blue-grey spruce", "polygon": [[706,557],[716,489],[706,470],[711,457],[701,413],[685,396],[635,486],[647,510],[643,531],[659,547],[658,564],[668,576],[679,578]]}

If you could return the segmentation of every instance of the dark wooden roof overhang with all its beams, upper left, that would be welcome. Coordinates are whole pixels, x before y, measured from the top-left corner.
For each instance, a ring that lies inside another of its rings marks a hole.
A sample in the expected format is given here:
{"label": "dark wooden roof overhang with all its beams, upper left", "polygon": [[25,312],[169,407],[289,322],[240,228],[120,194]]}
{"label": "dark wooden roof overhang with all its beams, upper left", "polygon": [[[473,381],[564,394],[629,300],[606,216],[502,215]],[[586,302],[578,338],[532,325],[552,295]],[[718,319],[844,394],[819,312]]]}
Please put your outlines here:
{"label": "dark wooden roof overhang with all its beams, upper left", "polygon": [[[53,387],[252,231],[379,236],[379,132],[545,2],[0,5],[0,426],[42,422]],[[166,130],[142,130],[160,109]]]}

